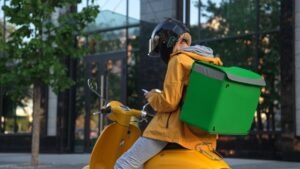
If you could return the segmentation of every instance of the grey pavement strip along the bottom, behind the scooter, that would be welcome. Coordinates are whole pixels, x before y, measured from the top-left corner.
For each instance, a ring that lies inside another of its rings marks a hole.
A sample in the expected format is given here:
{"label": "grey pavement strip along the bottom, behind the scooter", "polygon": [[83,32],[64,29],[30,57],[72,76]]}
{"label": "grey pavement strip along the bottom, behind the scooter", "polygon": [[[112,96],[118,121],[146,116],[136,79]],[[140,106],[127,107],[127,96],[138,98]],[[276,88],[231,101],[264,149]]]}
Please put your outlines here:
{"label": "grey pavement strip along the bottom, behind the scooter", "polygon": [[[0,169],[34,169],[29,153],[0,153]],[[36,169],[81,169],[89,154],[40,154]],[[300,169],[300,162],[225,158],[233,169]]]}

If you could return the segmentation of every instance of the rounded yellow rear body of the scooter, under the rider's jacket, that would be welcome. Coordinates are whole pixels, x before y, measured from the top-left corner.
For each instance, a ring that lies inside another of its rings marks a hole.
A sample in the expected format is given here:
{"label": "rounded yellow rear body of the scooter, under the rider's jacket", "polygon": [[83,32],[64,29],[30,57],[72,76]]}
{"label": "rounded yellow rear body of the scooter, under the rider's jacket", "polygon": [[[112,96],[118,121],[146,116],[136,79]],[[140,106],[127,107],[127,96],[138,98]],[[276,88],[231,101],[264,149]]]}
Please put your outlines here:
{"label": "rounded yellow rear body of the scooter, under the rider's jacket", "polygon": [[230,169],[214,152],[195,150],[164,150],[144,165],[144,169]]}

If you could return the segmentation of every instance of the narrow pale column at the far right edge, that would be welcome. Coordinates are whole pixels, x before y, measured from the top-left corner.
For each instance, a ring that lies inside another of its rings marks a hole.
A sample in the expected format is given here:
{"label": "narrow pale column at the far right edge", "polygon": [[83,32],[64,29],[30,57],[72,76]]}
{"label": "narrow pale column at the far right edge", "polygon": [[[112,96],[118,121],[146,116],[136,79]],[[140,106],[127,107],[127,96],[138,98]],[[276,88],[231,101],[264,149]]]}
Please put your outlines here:
{"label": "narrow pale column at the far right edge", "polygon": [[300,1],[295,1],[296,135],[300,136]]}

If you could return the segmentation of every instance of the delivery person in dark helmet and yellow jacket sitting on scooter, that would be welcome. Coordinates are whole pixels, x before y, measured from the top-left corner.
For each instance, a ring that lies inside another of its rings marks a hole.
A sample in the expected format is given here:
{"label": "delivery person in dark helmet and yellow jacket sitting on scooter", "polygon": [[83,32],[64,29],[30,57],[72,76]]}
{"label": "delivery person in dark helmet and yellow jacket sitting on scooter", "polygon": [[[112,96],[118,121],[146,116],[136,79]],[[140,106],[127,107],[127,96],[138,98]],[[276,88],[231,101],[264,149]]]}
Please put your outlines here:
{"label": "delivery person in dark helmet and yellow jacket sitting on scooter", "polygon": [[191,150],[216,148],[216,135],[191,127],[179,118],[194,61],[222,65],[222,61],[213,56],[212,49],[190,46],[191,41],[189,29],[175,19],[166,19],[154,28],[149,40],[148,55],[160,56],[167,64],[162,91],[151,90],[145,94],[157,113],[143,135],[117,160],[115,169],[142,168],[146,161],[168,143],[176,143]]}

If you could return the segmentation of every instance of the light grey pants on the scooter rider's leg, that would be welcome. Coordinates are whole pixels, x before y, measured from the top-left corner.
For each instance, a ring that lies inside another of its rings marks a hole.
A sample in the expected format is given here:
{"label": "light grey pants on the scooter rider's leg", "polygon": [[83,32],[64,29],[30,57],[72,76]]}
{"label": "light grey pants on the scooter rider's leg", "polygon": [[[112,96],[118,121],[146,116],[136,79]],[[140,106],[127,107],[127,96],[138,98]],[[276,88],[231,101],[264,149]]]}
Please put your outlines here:
{"label": "light grey pants on the scooter rider's leg", "polygon": [[168,142],[140,137],[116,162],[115,169],[141,169],[143,164],[159,153]]}

